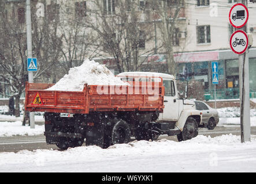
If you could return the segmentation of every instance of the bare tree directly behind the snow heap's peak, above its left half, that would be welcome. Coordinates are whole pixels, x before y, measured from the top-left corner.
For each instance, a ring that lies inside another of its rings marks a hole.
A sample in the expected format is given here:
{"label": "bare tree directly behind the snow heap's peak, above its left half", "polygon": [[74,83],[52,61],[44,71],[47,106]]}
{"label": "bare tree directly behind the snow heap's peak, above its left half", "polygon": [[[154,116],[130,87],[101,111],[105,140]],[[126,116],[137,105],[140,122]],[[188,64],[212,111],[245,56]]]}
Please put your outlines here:
{"label": "bare tree directly behind the snow heap's peak, above its left half", "polygon": [[[62,64],[65,72],[68,72],[69,68],[79,66],[84,59],[94,56],[97,50],[97,47],[94,47],[96,37],[84,24],[88,17],[86,1],[62,3],[61,14]],[[90,52],[92,55],[89,55]]]}

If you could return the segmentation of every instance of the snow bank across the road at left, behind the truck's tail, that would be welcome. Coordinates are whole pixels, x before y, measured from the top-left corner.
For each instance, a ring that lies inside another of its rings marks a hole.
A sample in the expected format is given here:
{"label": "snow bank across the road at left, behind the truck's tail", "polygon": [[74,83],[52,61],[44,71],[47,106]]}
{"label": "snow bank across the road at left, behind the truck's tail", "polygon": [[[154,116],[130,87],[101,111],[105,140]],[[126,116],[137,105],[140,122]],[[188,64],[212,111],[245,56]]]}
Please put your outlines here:
{"label": "snow bank across the road at left, behind the truck's tail", "polygon": [[35,129],[31,129],[28,125],[22,126],[21,121],[0,122],[0,137],[43,135],[43,132],[44,125],[35,125]]}

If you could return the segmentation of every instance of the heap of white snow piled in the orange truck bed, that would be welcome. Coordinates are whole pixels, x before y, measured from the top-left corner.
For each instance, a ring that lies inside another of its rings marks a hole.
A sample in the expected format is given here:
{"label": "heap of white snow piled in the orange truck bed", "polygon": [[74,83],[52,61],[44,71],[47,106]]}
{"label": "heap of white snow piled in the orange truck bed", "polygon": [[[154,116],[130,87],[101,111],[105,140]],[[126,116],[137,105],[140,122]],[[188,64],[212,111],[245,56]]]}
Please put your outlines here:
{"label": "heap of white snow piled in the orange truck bed", "polygon": [[54,86],[46,90],[83,91],[84,84],[88,85],[128,85],[120,78],[94,60],[85,60],[79,67],[73,67]]}

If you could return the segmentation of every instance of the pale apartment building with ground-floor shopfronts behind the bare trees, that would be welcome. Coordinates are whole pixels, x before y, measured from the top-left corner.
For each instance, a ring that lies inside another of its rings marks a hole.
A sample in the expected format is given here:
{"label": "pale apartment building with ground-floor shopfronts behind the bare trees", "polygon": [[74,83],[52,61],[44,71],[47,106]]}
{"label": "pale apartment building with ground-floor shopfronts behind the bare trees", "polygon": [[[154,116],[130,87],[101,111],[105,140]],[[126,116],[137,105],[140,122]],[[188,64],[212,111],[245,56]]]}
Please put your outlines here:
{"label": "pale apartment building with ground-floor shopfronts behind the bare trees", "polygon": [[[6,1],[12,7],[10,10],[17,13],[18,22],[25,24],[25,1]],[[138,49],[136,50],[140,63],[139,70],[166,72],[166,52],[162,47],[162,20],[157,16],[157,11],[149,7],[150,1],[147,0],[123,1],[125,11],[129,13],[135,9],[140,25],[149,25],[147,26],[149,30],[139,30]],[[39,7],[36,6],[40,2],[45,3],[44,13],[47,16],[50,14],[49,18],[54,19],[57,15],[57,19],[61,20],[65,16],[76,16],[80,19],[91,19],[98,24],[99,17],[95,12],[99,12],[99,6],[95,6],[95,1],[37,0],[32,1],[32,8],[38,9]],[[102,0],[99,2],[103,16],[114,17],[120,13],[118,1]],[[176,3],[176,0],[168,0],[165,3],[165,10],[169,11],[170,22],[173,20],[172,7],[175,7]],[[219,65],[219,84],[216,86],[219,91],[218,98],[239,97],[238,55],[233,53],[229,47],[229,37],[235,29],[229,24],[228,12],[235,3],[236,0],[185,1],[179,11],[172,36],[174,58],[177,63],[177,73],[174,75],[180,79],[199,83],[202,90],[201,97],[205,93],[212,93],[211,63],[216,61]],[[247,29],[256,40],[256,25],[253,21],[254,17],[256,18],[256,5],[248,3],[248,10]],[[118,33],[113,34],[114,37],[117,36],[116,34]],[[121,44],[124,45],[124,42],[121,41]],[[88,53],[90,59],[106,64],[118,74],[117,62],[112,55],[94,49],[90,52]],[[254,74],[256,70],[255,42],[249,54],[250,90],[256,91],[256,83],[253,82],[256,78]]]}

